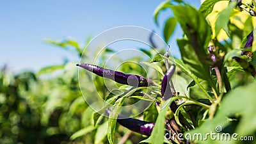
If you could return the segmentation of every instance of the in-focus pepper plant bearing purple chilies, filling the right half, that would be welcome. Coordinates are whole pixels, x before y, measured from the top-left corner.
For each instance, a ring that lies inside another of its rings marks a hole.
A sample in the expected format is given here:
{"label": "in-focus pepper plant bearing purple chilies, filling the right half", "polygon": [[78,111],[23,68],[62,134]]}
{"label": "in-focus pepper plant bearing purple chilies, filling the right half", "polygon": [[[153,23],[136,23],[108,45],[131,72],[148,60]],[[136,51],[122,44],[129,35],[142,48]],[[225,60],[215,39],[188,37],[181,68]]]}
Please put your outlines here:
{"label": "in-focus pepper plant bearing purple chilies, filling the right half", "polygon": [[[215,12],[214,6],[220,3],[225,8]],[[250,138],[246,142],[253,143],[256,138],[255,1],[207,0],[199,10],[184,1],[164,1],[154,13],[156,24],[159,13],[166,9],[172,10],[173,16],[164,24],[165,42],[172,38],[177,24],[184,35],[177,39],[181,59],[160,52],[152,61],[145,62],[166,66],[157,69],[159,74],[165,73],[160,81],[88,63],[77,64],[100,77],[131,86],[120,95],[106,98],[113,104],[111,109],[102,108],[109,116],[109,143],[115,143],[116,122],[148,136],[140,143],[244,143],[241,139],[244,136]],[[212,13],[217,13],[216,19],[209,21]],[[173,84],[175,79],[185,79],[182,88]],[[146,89],[150,92],[145,92]],[[140,97],[136,96],[138,93]],[[143,95],[152,101],[143,113],[143,120],[118,115],[125,100],[142,99]],[[96,124],[99,114],[95,113],[93,119]],[[214,139],[210,132],[218,136],[237,135],[236,139]]]}

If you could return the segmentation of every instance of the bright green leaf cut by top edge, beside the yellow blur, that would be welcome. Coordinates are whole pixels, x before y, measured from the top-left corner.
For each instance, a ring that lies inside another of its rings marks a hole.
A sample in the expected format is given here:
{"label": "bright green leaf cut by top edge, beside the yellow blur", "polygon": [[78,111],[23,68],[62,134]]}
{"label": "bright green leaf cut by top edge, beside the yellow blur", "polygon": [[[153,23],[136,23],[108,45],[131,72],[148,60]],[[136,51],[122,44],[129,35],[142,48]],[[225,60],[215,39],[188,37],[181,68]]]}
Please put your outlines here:
{"label": "bright green leaf cut by top edge, beside the yellow blur", "polygon": [[206,0],[204,1],[204,3],[201,4],[198,11],[202,13],[204,17],[207,17],[207,15],[209,15],[212,12],[214,5],[218,1],[224,1],[224,0]]}

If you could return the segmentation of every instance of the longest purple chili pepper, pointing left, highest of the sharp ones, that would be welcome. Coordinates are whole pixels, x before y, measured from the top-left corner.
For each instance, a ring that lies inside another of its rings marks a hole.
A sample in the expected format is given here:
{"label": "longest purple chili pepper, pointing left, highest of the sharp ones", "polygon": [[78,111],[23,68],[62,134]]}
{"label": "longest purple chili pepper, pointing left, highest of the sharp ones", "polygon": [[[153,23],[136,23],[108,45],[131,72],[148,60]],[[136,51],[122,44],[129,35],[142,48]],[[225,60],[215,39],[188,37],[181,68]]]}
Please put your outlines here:
{"label": "longest purple chili pepper, pointing left, highest of the sharp ones", "polygon": [[88,63],[80,63],[77,64],[77,66],[83,67],[84,69],[89,70],[90,72],[93,72],[94,74],[97,74],[100,77],[112,79],[113,81],[116,81],[120,84],[127,84],[136,87],[154,85],[151,79],[146,79],[143,76],[138,76],[134,74],[124,74],[122,72],[109,70],[107,68],[102,68],[97,65],[91,65]]}

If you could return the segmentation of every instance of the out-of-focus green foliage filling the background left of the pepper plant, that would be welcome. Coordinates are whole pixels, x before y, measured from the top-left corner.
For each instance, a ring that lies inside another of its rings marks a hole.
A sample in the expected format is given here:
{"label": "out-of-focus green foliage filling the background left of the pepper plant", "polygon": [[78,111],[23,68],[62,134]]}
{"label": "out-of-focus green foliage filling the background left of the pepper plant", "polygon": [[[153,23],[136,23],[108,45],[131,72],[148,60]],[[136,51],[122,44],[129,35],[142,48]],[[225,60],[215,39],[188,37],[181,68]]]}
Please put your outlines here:
{"label": "out-of-focus green foliage filling the background left of the pepper plant", "polygon": [[[89,36],[86,45],[91,39]],[[74,40],[45,42],[76,54],[77,61],[90,56],[90,53],[82,55],[85,48]],[[109,52],[114,51],[106,48],[101,58],[102,63],[106,61],[104,56]],[[140,60],[139,57],[132,59]],[[94,111],[85,102],[80,91],[76,63],[52,65],[41,68],[36,73],[11,74],[8,69],[1,69],[0,143],[108,143],[108,119],[100,117],[93,126]],[[129,73],[138,67],[140,66],[124,63],[118,70]],[[145,70],[138,70],[136,74],[144,75]],[[88,97],[109,95],[102,77],[90,79],[90,76],[80,81],[90,92]],[[124,127],[117,126],[116,129],[118,139],[129,132]],[[132,134],[127,143],[138,143],[142,138],[139,134]]]}

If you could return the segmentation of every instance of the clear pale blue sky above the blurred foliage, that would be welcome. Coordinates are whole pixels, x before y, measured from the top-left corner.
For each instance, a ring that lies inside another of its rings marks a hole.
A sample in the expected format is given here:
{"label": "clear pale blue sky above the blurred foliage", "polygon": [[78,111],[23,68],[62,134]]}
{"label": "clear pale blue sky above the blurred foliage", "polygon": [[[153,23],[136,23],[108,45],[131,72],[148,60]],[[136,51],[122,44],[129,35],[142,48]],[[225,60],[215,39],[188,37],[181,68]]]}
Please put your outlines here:
{"label": "clear pale blue sky above the blurred foliage", "polygon": [[[162,26],[171,11],[161,13],[159,28],[154,24],[152,16],[161,2],[0,1],[0,67],[7,64],[15,72],[36,72],[45,66],[61,64],[65,58],[79,61],[74,54],[45,44],[45,38],[72,38],[84,45],[89,35],[96,36],[107,29],[127,25],[154,29],[158,35],[163,36]],[[199,0],[190,3],[196,8],[200,5]],[[182,33],[177,30],[173,39],[180,35]],[[175,45],[175,40],[170,43]],[[174,54],[179,56],[179,52],[175,51]]]}

